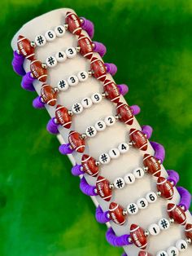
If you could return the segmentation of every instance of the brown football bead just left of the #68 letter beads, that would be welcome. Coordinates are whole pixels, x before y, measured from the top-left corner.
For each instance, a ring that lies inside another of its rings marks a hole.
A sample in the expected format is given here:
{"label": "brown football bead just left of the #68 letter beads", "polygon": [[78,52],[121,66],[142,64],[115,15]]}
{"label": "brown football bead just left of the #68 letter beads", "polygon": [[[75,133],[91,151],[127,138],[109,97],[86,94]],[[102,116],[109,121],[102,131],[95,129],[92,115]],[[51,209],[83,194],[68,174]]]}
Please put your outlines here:
{"label": "brown football bead just left of the #68 letter beads", "polygon": [[31,46],[31,42],[28,38],[24,38],[23,36],[19,36],[17,38],[17,47],[20,55],[23,55],[28,60],[33,60],[35,56],[35,48]]}

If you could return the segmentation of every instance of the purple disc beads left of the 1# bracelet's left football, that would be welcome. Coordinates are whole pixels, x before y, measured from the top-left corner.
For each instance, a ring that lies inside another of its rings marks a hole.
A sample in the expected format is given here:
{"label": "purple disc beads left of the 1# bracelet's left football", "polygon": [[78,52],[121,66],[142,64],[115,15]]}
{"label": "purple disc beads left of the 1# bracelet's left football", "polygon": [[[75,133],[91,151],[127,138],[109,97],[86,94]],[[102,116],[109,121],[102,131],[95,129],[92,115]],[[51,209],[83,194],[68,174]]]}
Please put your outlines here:
{"label": "purple disc beads left of the 1# bracelet's left football", "polygon": [[113,246],[132,245],[132,243],[129,242],[129,236],[130,235],[116,236],[112,227],[108,228],[106,232],[107,242]]}

